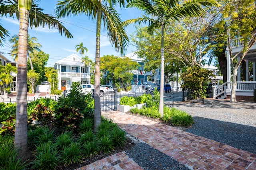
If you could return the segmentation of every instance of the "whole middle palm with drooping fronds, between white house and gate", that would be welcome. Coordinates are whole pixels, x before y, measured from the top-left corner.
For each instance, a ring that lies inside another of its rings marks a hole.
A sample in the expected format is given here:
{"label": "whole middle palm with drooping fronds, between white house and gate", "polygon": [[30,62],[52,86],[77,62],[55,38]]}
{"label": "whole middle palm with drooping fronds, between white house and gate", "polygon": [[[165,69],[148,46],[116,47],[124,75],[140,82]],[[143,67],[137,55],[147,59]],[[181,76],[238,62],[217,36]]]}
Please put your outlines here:
{"label": "whole middle palm with drooping fronds, between white house and gate", "polygon": [[[128,0],[127,0],[128,1]],[[120,20],[114,5],[124,6],[124,0],[60,0],[56,7],[58,18],[70,15],[85,14],[96,20],[96,54],[94,74],[94,131],[101,123],[100,113],[100,27],[101,22],[106,27],[110,42],[114,48],[123,55],[126,51],[128,36],[126,35],[122,21]]]}

